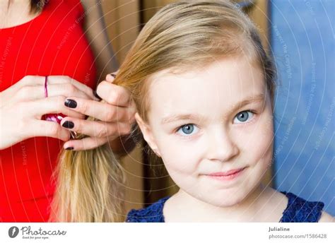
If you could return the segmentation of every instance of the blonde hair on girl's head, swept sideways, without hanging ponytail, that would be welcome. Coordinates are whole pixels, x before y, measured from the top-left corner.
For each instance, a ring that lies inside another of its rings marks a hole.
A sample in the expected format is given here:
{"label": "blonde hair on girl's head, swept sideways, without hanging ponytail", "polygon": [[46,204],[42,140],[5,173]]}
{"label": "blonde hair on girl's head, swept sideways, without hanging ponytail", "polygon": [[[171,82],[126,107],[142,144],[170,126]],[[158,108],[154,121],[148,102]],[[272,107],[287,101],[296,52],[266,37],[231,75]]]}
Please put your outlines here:
{"label": "blonde hair on girl's head, swept sideways, without hanging ponytail", "polygon": [[113,83],[130,91],[137,112],[147,121],[148,84],[153,74],[201,69],[233,55],[244,55],[258,64],[273,104],[274,65],[245,13],[230,1],[182,1],[160,9],[146,23]]}

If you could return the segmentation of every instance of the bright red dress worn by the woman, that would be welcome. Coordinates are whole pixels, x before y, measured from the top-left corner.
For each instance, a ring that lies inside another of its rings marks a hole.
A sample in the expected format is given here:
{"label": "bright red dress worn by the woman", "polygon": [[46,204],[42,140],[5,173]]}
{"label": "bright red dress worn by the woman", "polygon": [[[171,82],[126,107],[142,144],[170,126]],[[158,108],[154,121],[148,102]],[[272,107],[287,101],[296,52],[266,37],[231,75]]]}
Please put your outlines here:
{"label": "bright red dress worn by the woman", "polygon": [[[50,0],[28,23],[0,29],[0,91],[27,75],[66,75],[95,88],[84,15],[79,0]],[[0,150],[0,222],[48,220],[62,146],[58,139],[38,137]]]}

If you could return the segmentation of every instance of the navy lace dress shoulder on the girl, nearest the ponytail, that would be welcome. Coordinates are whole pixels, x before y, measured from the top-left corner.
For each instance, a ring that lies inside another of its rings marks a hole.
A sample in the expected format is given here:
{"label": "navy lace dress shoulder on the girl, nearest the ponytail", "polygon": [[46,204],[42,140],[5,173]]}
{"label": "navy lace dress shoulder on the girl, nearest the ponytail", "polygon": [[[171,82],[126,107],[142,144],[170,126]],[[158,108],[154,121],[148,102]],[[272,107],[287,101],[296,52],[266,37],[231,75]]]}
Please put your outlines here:
{"label": "navy lace dress shoulder on the girl, nearest the ponytail", "polygon": [[163,223],[164,222],[164,215],[163,215],[163,208],[164,203],[167,199],[170,198],[169,196],[165,198],[161,198],[160,200],[156,201],[155,203],[151,204],[146,208],[141,209],[132,209],[129,211],[127,215],[127,223]]}

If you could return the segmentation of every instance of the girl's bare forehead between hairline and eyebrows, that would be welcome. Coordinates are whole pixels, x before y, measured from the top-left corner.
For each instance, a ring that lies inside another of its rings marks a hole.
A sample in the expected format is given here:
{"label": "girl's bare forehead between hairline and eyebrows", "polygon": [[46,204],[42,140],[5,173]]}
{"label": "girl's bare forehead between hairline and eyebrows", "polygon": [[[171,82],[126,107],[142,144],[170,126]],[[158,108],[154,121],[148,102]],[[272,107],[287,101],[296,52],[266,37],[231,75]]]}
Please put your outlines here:
{"label": "girl's bare forehead between hairline and eyebrows", "polygon": [[[266,95],[261,69],[243,59],[222,59],[201,70],[157,73],[149,88],[151,111],[223,112],[240,102]],[[261,99],[259,99],[261,100]]]}

